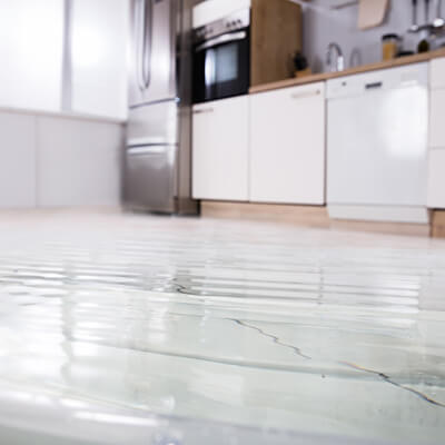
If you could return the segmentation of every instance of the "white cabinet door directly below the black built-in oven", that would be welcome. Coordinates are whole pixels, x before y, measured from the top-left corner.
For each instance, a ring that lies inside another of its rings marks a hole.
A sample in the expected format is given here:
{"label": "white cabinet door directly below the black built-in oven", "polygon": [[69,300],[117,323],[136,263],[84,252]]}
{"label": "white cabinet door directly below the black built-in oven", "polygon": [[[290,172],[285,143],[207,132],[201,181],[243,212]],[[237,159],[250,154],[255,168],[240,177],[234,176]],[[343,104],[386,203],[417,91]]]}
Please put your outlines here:
{"label": "white cabinet door directly below the black built-in oven", "polygon": [[248,200],[248,136],[247,96],[194,107],[194,198]]}

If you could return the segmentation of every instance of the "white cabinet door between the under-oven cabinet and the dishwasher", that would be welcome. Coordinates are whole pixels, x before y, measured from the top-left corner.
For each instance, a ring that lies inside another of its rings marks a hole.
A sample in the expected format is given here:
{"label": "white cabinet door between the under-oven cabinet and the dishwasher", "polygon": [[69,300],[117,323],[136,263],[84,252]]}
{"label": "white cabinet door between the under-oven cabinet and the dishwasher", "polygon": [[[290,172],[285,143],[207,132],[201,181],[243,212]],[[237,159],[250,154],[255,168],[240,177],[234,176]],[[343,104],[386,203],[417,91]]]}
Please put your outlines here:
{"label": "white cabinet door between the under-oven cabinet and the dishwasher", "polygon": [[324,83],[251,96],[250,200],[325,202]]}

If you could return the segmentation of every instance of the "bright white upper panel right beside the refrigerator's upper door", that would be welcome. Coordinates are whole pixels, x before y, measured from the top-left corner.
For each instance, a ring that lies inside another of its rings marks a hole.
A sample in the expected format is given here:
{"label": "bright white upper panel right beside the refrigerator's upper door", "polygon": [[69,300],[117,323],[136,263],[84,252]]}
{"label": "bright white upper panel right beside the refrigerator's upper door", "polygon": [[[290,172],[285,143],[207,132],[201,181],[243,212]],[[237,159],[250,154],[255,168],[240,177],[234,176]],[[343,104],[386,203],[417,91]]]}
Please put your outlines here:
{"label": "bright white upper panel right beside the refrigerator's upper door", "polygon": [[128,0],[72,0],[72,111],[126,119]]}

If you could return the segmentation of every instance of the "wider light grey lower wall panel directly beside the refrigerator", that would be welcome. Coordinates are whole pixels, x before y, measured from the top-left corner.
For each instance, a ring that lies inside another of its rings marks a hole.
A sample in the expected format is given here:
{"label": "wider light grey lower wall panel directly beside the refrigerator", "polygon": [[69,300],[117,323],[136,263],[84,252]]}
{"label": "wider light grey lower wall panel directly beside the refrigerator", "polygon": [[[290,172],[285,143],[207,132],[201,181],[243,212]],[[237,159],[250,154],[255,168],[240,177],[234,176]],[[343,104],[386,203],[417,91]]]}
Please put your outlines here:
{"label": "wider light grey lower wall panel directly beside the refrigerator", "polygon": [[37,206],[119,206],[122,126],[37,117]]}

